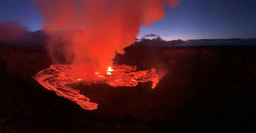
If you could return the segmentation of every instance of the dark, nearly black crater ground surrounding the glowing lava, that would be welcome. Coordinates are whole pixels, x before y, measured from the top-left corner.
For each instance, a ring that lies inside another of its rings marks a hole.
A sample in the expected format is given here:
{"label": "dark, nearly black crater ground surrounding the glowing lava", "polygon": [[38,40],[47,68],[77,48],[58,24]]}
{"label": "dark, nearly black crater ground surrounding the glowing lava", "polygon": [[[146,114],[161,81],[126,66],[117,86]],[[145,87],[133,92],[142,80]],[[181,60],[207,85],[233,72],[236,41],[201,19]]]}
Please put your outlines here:
{"label": "dark, nearly black crater ground surrounding the glowing lava", "polygon": [[72,84],[84,110],[31,78],[46,50],[0,46],[0,132],[255,132],[256,47],[129,47],[116,64],[155,68],[136,87]]}

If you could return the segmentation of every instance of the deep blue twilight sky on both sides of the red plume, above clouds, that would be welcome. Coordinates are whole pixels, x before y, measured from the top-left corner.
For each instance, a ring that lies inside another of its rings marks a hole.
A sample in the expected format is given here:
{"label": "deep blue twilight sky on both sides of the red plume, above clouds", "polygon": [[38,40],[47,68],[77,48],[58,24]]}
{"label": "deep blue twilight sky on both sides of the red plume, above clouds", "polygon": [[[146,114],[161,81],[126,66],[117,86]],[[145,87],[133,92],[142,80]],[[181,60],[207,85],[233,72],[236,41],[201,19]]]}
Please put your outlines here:
{"label": "deep blue twilight sky on both sides of the red plume, above clouds", "polygon": [[[43,18],[29,0],[0,0],[0,21],[18,20],[30,31],[43,27]],[[138,38],[158,34],[172,39],[256,38],[255,0],[181,0],[166,17],[141,27]]]}

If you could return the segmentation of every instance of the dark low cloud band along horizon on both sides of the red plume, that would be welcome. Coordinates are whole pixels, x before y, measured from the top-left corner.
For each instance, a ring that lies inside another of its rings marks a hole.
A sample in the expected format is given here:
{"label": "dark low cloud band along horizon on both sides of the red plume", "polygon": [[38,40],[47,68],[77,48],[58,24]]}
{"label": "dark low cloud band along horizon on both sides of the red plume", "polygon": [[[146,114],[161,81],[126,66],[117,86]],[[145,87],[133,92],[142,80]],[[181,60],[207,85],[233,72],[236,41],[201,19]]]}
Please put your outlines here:
{"label": "dark low cloud band along horizon on both sides of the red plume", "polygon": [[[30,32],[26,31],[15,36],[13,39],[0,39],[0,44],[42,47],[48,40],[48,35],[44,31]],[[151,38],[151,39],[148,39]],[[250,39],[193,39],[193,40],[171,40],[161,39],[159,35],[144,35],[142,39],[136,39],[134,46],[154,46],[154,47],[171,47],[171,46],[246,46],[256,45],[256,38]]]}

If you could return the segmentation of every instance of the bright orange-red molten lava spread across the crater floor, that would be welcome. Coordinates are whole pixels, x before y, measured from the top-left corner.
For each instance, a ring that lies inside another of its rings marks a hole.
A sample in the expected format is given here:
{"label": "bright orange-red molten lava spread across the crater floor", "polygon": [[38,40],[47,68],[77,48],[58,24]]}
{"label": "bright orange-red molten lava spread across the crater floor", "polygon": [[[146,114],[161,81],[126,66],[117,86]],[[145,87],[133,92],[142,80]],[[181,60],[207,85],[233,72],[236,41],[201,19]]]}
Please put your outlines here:
{"label": "bright orange-red molten lava spread across the crater floor", "polygon": [[[67,85],[79,82],[80,79],[76,72],[78,65],[51,65],[50,68],[44,69],[37,73],[35,78],[38,83],[43,85],[48,90],[55,91],[57,95],[68,98],[71,101],[76,102],[80,107],[84,109],[96,109],[96,103],[90,102],[90,99],[82,94],[79,94],[78,90],[75,90]],[[109,67],[107,72],[112,72],[111,75],[99,75],[99,72],[95,72],[91,83],[109,84],[111,86],[136,86],[138,83],[152,82],[152,88],[156,87],[159,82],[159,77],[156,74],[155,69],[146,71],[136,71],[136,66],[131,65],[113,65],[113,69]],[[88,82],[88,81],[86,81]]]}

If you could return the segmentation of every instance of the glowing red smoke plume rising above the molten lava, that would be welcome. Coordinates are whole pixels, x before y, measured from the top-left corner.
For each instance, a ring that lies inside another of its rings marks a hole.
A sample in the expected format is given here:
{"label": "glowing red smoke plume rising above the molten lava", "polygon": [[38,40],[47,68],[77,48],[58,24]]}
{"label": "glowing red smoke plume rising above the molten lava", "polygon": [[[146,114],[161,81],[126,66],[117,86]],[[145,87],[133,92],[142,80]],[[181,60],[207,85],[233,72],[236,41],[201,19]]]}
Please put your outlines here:
{"label": "glowing red smoke plume rising above the molten lava", "polygon": [[[49,53],[54,63],[92,63],[105,71],[112,59],[130,46],[140,26],[164,18],[165,5],[179,0],[38,0],[50,35]],[[58,45],[65,42],[65,45]]]}

